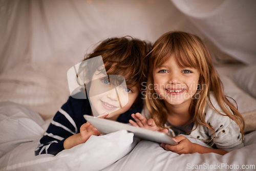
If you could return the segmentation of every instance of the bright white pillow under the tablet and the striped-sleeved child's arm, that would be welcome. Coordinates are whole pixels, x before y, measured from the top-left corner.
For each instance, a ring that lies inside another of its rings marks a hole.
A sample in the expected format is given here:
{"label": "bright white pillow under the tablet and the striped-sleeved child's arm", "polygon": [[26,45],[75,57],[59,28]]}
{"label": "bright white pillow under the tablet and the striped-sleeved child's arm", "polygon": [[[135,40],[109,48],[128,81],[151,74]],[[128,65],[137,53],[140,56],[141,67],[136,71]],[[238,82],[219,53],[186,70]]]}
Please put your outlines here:
{"label": "bright white pillow under the tablet and the striped-sleeved child's arm", "polygon": [[0,158],[0,170],[101,170],[132,151],[136,142],[133,141],[133,133],[121,130],[91,136],[86,143],[66,149],[56,156],[35,156],[37,142],[27,142]]}

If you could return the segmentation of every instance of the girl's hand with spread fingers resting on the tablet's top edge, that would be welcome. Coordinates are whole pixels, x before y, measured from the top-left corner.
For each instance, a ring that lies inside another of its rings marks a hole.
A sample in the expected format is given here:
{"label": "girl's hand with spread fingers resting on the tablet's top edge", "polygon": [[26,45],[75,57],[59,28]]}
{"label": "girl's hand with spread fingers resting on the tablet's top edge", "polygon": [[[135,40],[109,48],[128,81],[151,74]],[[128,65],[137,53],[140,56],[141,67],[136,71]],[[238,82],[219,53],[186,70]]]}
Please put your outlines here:
{"label": "girl's hand with spread fingers resting on the tablet's top edge", "polygon": [[141,115],[140,113],[136,113],[136,114],[132,114],[132,117],[134,118],[134,120],[136,122],[134,122],[133,120],[129,120],[129,122],[133,125],[133,126],[137,126],[137,127],[143,127],[144,129],[147,130],[152,130],[152,131],[158,131],[158,132],[163,132],[165,134],[168,133],[167,129],[160,129],[154,119],[150,118],[148,120],[146,120],[146,118]]}

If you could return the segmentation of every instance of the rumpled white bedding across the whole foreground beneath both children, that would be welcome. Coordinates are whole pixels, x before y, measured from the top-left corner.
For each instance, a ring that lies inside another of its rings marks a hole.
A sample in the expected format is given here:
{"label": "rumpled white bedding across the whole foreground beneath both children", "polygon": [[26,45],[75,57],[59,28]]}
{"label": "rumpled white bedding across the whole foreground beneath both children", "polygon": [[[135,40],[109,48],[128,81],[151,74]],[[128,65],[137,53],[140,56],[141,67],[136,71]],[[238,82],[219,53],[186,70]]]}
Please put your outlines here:
{"label": "rumpled white bedding across the whole foreground beneath both children", "polygon": [[256,131],[245,136],[245,147],[224,156],[214,153],[178,155],[167,152],[158,143],[150,141],[140,141],[135,146],[133,134],[126,131],[92,136],[86,143],[62,151],[55,157],[34,156],[34,147],[39,137],[44,134],[46,124],[48,123],[30,108],[10,102],[0,103],[1,171],[193,170],[191,168],[195,167],[208,170],[221,167],[226,170],[227,166],[250,165],[255,169]]}

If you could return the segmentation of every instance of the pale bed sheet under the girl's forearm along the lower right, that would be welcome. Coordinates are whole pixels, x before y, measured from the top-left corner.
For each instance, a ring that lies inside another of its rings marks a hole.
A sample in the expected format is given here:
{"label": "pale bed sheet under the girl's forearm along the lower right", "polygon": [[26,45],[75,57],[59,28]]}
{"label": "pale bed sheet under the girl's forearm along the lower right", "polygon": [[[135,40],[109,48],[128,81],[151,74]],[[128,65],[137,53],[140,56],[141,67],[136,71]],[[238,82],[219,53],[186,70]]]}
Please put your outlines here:
{"label": "pale bed sheet under the girl's forearm along the lower right", "polygon": [[245,136],[244,147],[223,156],[215,153],[178,155],[165,151],[158,143],[141,141],[131,153],[103,170],[255,170],[255,153],[255,131]]}

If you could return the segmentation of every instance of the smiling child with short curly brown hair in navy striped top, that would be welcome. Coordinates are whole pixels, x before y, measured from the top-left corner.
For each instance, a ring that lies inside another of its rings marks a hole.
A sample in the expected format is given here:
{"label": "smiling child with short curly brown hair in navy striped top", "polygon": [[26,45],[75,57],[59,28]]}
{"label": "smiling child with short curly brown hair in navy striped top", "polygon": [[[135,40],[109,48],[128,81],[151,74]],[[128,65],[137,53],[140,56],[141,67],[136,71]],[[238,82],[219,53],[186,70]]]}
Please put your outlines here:
{"label": "smiling child with short curly brown hair in navy striped top", "polygon": [[[97,91],[95,90],[96,84],[95,81],[92,81],[93,83],[91,82],[90,86],[94,87],[94,90],[87,90],[87,93],[97,95],[97,98],[77,99],[69,97],[68,101],[55,114],[45,135],[40,139],[35,149],[35,155],[56,155],[63,149],[69,149],[86,142],[91,135],[100,135],[100,132],[83,118],[83,115],[93,115],[90,105],[92,101],[96,101],[94,103],[97,105],[95,108],[114,111],[110,116],[105,115],[104,117],[122,123],[129,123],[129,120],[132,119],[131,114],[140,112],[142,109],[139,85],[145,78],[146,63],[143,59],[148,50],[150,50],[150,45],[127,36],[102,41],[93,53],[87,55],[84,59],[91,60],[100,55],[102,57],[104,66],[95,69],[91,76],[98,77],[101,74],[102,67],[106,75],[122,75],[126,81],[127,88],[124,91],[128,94],[128,100],[121,108],[117,109],[114,105],[118,105],[118,99],[114,96],[113,91],[109,91],[110,93],[106,93],[104,97],[95,94]],[[109,79],[100,80],[110,87]],[[99,101],[100,103],[98,103]]]}

